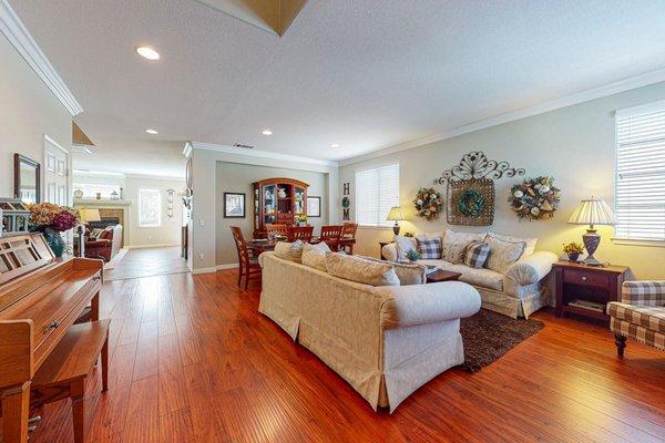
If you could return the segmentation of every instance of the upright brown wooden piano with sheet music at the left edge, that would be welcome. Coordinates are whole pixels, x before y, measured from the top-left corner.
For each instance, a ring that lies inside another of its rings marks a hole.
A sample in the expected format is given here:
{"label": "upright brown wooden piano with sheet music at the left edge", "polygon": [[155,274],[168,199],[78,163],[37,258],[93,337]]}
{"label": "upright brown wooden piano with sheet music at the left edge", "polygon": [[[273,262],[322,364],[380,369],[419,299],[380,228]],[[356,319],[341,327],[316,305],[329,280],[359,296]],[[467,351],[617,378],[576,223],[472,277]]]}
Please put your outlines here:
{"label": "upright brown wooden piano with sheet music at the left edge", "polygon": [[35,372],[91,306],[99,320],[103,262],[58,261],[41,234],[0,237],[0,400],[4,443],[28,440]]}

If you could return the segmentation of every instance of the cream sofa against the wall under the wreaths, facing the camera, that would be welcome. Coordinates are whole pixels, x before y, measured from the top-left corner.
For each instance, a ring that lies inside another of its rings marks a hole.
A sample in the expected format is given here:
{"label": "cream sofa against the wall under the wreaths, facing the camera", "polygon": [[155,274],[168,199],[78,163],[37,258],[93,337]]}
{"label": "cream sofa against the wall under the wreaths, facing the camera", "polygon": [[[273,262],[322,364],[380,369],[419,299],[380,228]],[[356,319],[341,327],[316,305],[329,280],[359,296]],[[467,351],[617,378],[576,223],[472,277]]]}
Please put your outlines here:
{"label": "cream sofa against the wall under the wreaths, facing the camera", "polygon": [[[457,234],[459,235],[459,233]],[[550,251],[534,251],[538,241],[534,238],[520,239],[492,233],[475,234],[473,236],[475,236],[474,239],[482,240],[490,235],[511,241],[523,241],[525,245],[521,256],[501,271],[488,268],[471,268],[463,262],[451,262],[443,258],[423,259],[418,260],[418,262],[460,272],[462,275],[460,281],[472,285],[480,292],[482,307],[495,312],[513,318],[528,318],[536,310],[545,306],[552,306],[546,277],[552,270],[552,265],[559,259],[556,255]],[[446,241],[446,233],[423,234],[422,236],[428,238],[440,237],[442,241]],[[398,246],[395,243],[383,246],[382,254],[388,261],[397,261],[400,258]]]}

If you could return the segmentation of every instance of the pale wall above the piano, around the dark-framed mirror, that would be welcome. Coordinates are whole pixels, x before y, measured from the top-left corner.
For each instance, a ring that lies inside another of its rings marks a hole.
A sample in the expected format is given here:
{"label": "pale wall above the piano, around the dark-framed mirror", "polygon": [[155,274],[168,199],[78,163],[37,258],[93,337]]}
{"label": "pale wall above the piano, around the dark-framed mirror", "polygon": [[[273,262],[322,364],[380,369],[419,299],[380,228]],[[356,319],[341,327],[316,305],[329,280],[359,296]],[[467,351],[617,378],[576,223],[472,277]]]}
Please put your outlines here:
{"label": "pale wall above the piano, around the dark-framed mirror", "polygon": [[[44,134],[69,150],[72,144],[72,117],[4,35],[0,34],[1,197],[13,197],[14,153],[41,163],[43,174]],[[69,167],[71,171],[71,155]],[[43,199],[43,179],[41,183]]]}

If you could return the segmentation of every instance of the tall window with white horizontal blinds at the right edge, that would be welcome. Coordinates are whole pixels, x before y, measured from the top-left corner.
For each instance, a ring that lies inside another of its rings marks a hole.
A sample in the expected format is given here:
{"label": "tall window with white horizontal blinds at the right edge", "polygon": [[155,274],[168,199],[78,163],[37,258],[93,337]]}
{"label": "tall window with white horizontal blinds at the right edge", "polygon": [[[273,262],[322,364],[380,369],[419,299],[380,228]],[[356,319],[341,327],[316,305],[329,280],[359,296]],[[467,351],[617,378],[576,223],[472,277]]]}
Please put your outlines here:
{"label": "tall window with white horizontal blinds at the right edge", "polygon": [[665,241],[665,102],[616,112],[616,237]]}

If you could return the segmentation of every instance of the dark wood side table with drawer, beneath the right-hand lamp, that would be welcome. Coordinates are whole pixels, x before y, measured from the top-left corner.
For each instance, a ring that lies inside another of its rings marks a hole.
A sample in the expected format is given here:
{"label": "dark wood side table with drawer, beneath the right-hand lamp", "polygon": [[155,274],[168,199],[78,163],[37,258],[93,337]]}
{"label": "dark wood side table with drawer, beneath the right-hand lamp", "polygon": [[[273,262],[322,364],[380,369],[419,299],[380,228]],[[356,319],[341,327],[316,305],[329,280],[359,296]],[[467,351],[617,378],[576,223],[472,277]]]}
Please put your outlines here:
{"label": "dark wood side table with drawer, beneath the right-hand lamp", "polygon": [[608,320],[607,302],[621,299],[621,286],[628,269],[626,266],[600,267],[559,261],[554,265],[556,317],[574,312]]}

